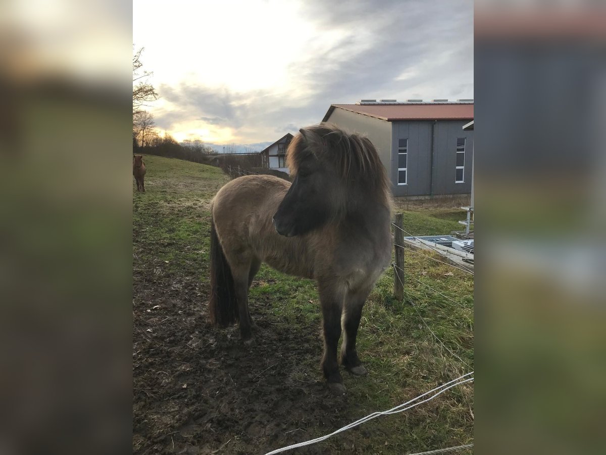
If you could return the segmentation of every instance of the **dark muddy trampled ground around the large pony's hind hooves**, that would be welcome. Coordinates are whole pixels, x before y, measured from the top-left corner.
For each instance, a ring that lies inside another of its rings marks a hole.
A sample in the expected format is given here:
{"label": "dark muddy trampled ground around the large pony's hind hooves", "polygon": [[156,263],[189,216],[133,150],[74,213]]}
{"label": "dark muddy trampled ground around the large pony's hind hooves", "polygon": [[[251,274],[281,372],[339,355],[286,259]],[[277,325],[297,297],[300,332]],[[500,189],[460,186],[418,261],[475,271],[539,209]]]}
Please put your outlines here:
{"label": "dark muddy trampled ground around the large pony's hind hooves", "polygon": [[154,269],[134,277],[134,453],[266,453],[348,423],[347,398],[328,393],[319,366],[301,368],[319,364],[317,326],[277,324],[257,299],[256,345],[244,346],[237,328],[207,323],[205,285]]}

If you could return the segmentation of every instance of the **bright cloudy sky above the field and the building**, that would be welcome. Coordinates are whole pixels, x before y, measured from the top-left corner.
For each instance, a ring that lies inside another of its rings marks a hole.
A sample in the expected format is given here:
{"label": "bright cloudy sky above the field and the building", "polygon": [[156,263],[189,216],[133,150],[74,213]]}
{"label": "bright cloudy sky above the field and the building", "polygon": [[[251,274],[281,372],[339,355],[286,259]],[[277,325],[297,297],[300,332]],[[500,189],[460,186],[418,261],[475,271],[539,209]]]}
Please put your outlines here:
{"label": "bright cloudy sky above the field and the building", "polygon": [[134,0],[133,44],[179,141],[273,142],[365,98],[473,98],[471,0]]}

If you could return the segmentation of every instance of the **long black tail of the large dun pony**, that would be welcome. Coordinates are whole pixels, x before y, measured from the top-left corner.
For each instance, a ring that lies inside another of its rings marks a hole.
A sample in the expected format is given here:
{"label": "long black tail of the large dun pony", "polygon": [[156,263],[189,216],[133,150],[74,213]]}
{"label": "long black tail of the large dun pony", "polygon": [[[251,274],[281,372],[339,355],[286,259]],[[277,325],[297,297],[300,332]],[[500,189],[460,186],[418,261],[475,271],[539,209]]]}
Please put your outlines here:
{"label": "long black tail of the large dun pony", "polygon": [[225,258],[215,229],[215,220],[210,221],[210,300],[208,315],[213,325],[227,326],[239,319],[236,292],[231,268]]}

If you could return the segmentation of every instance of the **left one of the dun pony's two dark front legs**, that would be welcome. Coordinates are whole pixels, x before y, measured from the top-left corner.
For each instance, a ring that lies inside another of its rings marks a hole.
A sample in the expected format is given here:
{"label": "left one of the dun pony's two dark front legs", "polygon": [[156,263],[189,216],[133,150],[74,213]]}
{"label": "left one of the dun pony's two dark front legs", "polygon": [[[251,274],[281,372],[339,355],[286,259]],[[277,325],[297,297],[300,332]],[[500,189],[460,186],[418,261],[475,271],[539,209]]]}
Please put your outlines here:
{"label": "left one of the dun pony's two dark front legs", "polygon": [[341,312],[343,294],[335,289],[322,289],[320,302],[322,305],[322,325],[324,331],[324,356],[322,356],[322,371],[333,393],[344,394],[347,389],[343,385],[339,363],[337,362],[337,346],[341,337]]}

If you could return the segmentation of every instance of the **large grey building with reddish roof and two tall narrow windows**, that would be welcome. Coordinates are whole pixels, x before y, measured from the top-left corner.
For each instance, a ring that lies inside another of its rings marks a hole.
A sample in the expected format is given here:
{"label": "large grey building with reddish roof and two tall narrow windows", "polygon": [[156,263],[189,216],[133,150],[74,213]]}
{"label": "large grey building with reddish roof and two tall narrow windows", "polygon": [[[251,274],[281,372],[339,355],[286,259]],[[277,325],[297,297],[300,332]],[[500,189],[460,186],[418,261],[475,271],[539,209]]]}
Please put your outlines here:
{"label": "large grey building with reddish roof and two tall narrow windows", "polygon": [[471,193],[473,100],[362,100],[332,104],[322,121],[364,133],[375,144],[394,196]]}

